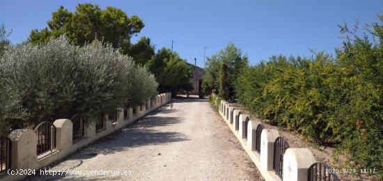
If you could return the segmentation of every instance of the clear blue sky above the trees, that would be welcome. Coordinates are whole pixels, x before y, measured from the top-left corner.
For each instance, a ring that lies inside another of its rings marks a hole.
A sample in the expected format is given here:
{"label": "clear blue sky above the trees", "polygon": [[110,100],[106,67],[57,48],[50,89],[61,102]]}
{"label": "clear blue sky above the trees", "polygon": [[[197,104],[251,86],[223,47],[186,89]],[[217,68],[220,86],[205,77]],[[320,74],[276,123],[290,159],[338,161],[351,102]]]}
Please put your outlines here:
{"label": "clear blue sky above the trees", "polygon": [[152,39],[157,49],[171,47],[189,63],[203,66],[203,47],[211,56],[234,42],[253,65],[272,55],[311,56],[310,49],[334,54],[342,39],[337,24],[378,22],[382,0],[343,1],[57,1],[1,0],[0,23],[12,29],[11,42],[26,40],[32,29],[47,26],[52,12],[63,5],[75,10],[77,3],[114,6],[128,16],[138,15],[146,24],[133,38]]}

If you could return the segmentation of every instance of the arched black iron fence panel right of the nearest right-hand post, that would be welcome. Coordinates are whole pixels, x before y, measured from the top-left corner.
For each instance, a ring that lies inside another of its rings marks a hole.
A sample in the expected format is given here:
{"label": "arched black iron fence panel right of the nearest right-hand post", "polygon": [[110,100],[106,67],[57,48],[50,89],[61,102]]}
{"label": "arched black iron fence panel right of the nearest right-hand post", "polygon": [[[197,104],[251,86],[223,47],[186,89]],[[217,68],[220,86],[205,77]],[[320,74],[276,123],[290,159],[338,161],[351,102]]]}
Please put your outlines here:
{"label": "arched black iron fence panel right of the nearest right-hand post", "polygon": [[322,164],[320,162],[317,162],[315,164],[312,164],[308,168],[308,181],[317,181],[317,180],[324,180],[324,181],[338,181],[338,176],[334,173],[334,170],[331,169],[330,166],[327,164]]}

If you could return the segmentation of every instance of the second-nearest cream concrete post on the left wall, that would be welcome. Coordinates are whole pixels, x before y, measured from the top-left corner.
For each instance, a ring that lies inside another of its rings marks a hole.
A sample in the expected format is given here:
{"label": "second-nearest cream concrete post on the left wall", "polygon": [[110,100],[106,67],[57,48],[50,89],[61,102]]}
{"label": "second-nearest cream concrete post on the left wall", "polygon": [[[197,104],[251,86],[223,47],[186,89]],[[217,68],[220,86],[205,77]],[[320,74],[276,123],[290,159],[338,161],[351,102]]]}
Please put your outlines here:
{"label": "second-nearest cream concrete post on the left wall", "polygon": [[53,125],[56,127],[56,150],[65,150],[65,148],[70,148],[72,146],[72,121],[69,119],[59,119],[55,120]]}

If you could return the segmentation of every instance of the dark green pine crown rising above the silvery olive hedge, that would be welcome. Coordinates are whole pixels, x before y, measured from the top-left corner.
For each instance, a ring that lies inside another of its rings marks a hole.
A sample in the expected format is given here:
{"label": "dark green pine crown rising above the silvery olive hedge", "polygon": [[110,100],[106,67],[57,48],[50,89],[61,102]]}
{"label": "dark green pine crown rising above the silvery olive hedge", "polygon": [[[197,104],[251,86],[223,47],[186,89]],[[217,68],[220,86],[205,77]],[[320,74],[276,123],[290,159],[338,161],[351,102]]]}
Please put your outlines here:
{"label": "dark green pine crown rising above the silvery olive hedge", "polygon": [[45,29],[31,31],[29,40],[33,43],[47,42],[51,37],[65,34],[75,45],[100,39],[118,48],[129,45],[132,35],[139,33],[144,26],[139,17],[128,17],[119,8],[101,10],[91,3],[79,3],[75,12],[61,6],[52,13],[52,19],[47,24]]}

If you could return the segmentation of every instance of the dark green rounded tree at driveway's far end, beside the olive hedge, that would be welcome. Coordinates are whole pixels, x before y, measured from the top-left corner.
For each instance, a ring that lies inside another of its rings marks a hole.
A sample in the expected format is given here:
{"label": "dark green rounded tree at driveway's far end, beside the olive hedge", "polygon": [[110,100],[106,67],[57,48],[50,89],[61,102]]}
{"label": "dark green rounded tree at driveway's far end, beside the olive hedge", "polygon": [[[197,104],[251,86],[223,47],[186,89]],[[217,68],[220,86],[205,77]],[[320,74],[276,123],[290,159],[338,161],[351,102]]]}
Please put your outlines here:
{"label": "dark green rounded tree at driveway's far end, beside the olive hedge", "polygon": [[146,66],[155,74],[159,83],[158,89],[162,93],[171,91],[175,95],[178,90],[187,90],[192,86],[190,82],[192,70],[186,61],[171,49],[159,49]]}

